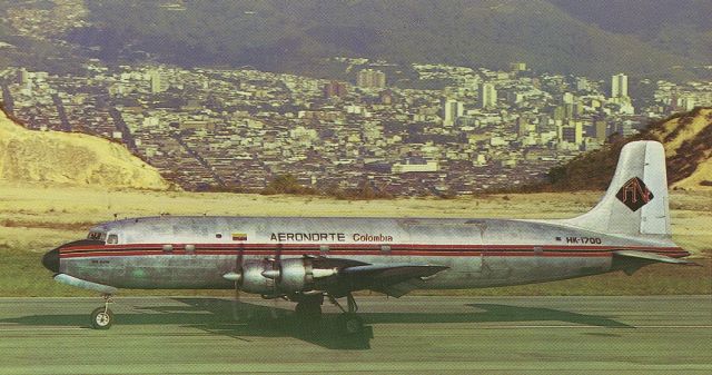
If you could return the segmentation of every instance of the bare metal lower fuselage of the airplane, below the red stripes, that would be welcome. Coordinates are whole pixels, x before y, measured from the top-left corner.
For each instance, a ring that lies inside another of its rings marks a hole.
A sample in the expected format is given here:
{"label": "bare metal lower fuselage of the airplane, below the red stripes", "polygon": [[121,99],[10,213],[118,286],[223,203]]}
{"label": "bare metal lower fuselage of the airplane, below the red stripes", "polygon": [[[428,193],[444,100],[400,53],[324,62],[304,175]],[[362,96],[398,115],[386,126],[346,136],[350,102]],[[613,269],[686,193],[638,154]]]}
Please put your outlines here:
{"label": "bare metal lower fuselage of the airplane, below the red stripes", "polygon": [[[264,256],[246,257],[259,260]],[[285,257],[287,258],[287,257]],[[546,282],[605,273],[611,257],[590,256],[350,256],[369,264],[432,264],[447,266],[422,288],[473,288]],[[235,255],[157,255],[72,259],[66,273],[119,288],[234,288],[222,278],[233,272]]]}

